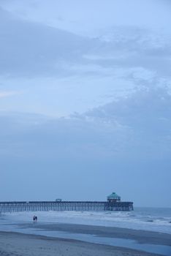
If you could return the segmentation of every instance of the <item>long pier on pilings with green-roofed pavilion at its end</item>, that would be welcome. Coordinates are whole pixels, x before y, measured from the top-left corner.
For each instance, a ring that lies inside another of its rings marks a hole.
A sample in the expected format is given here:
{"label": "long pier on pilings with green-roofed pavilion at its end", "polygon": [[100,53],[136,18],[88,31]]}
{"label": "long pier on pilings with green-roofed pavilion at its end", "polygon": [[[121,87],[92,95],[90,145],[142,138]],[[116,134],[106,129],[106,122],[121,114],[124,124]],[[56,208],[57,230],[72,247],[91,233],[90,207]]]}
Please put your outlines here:
{"label": "long pier on pilings with green-roofed pavilion at its end", "polygon": [[12,201],[0,202],[0,213],[15,211],[133,211],[132,202],[121,202],[113,192],[107,201]]}

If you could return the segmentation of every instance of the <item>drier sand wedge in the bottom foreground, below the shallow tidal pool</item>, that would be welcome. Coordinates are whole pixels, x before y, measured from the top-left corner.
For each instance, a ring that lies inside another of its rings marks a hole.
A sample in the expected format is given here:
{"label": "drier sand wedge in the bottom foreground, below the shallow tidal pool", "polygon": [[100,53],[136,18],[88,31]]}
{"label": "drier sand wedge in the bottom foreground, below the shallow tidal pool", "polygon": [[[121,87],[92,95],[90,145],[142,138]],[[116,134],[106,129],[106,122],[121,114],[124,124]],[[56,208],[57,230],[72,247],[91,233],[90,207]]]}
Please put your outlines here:
{"label": "drier sand wedge in the bottom foreground, below the shallow tidal pool", "polygon": [[0,232],[1,256],[152,256],[115,246],[91,244],[64,238]]}

